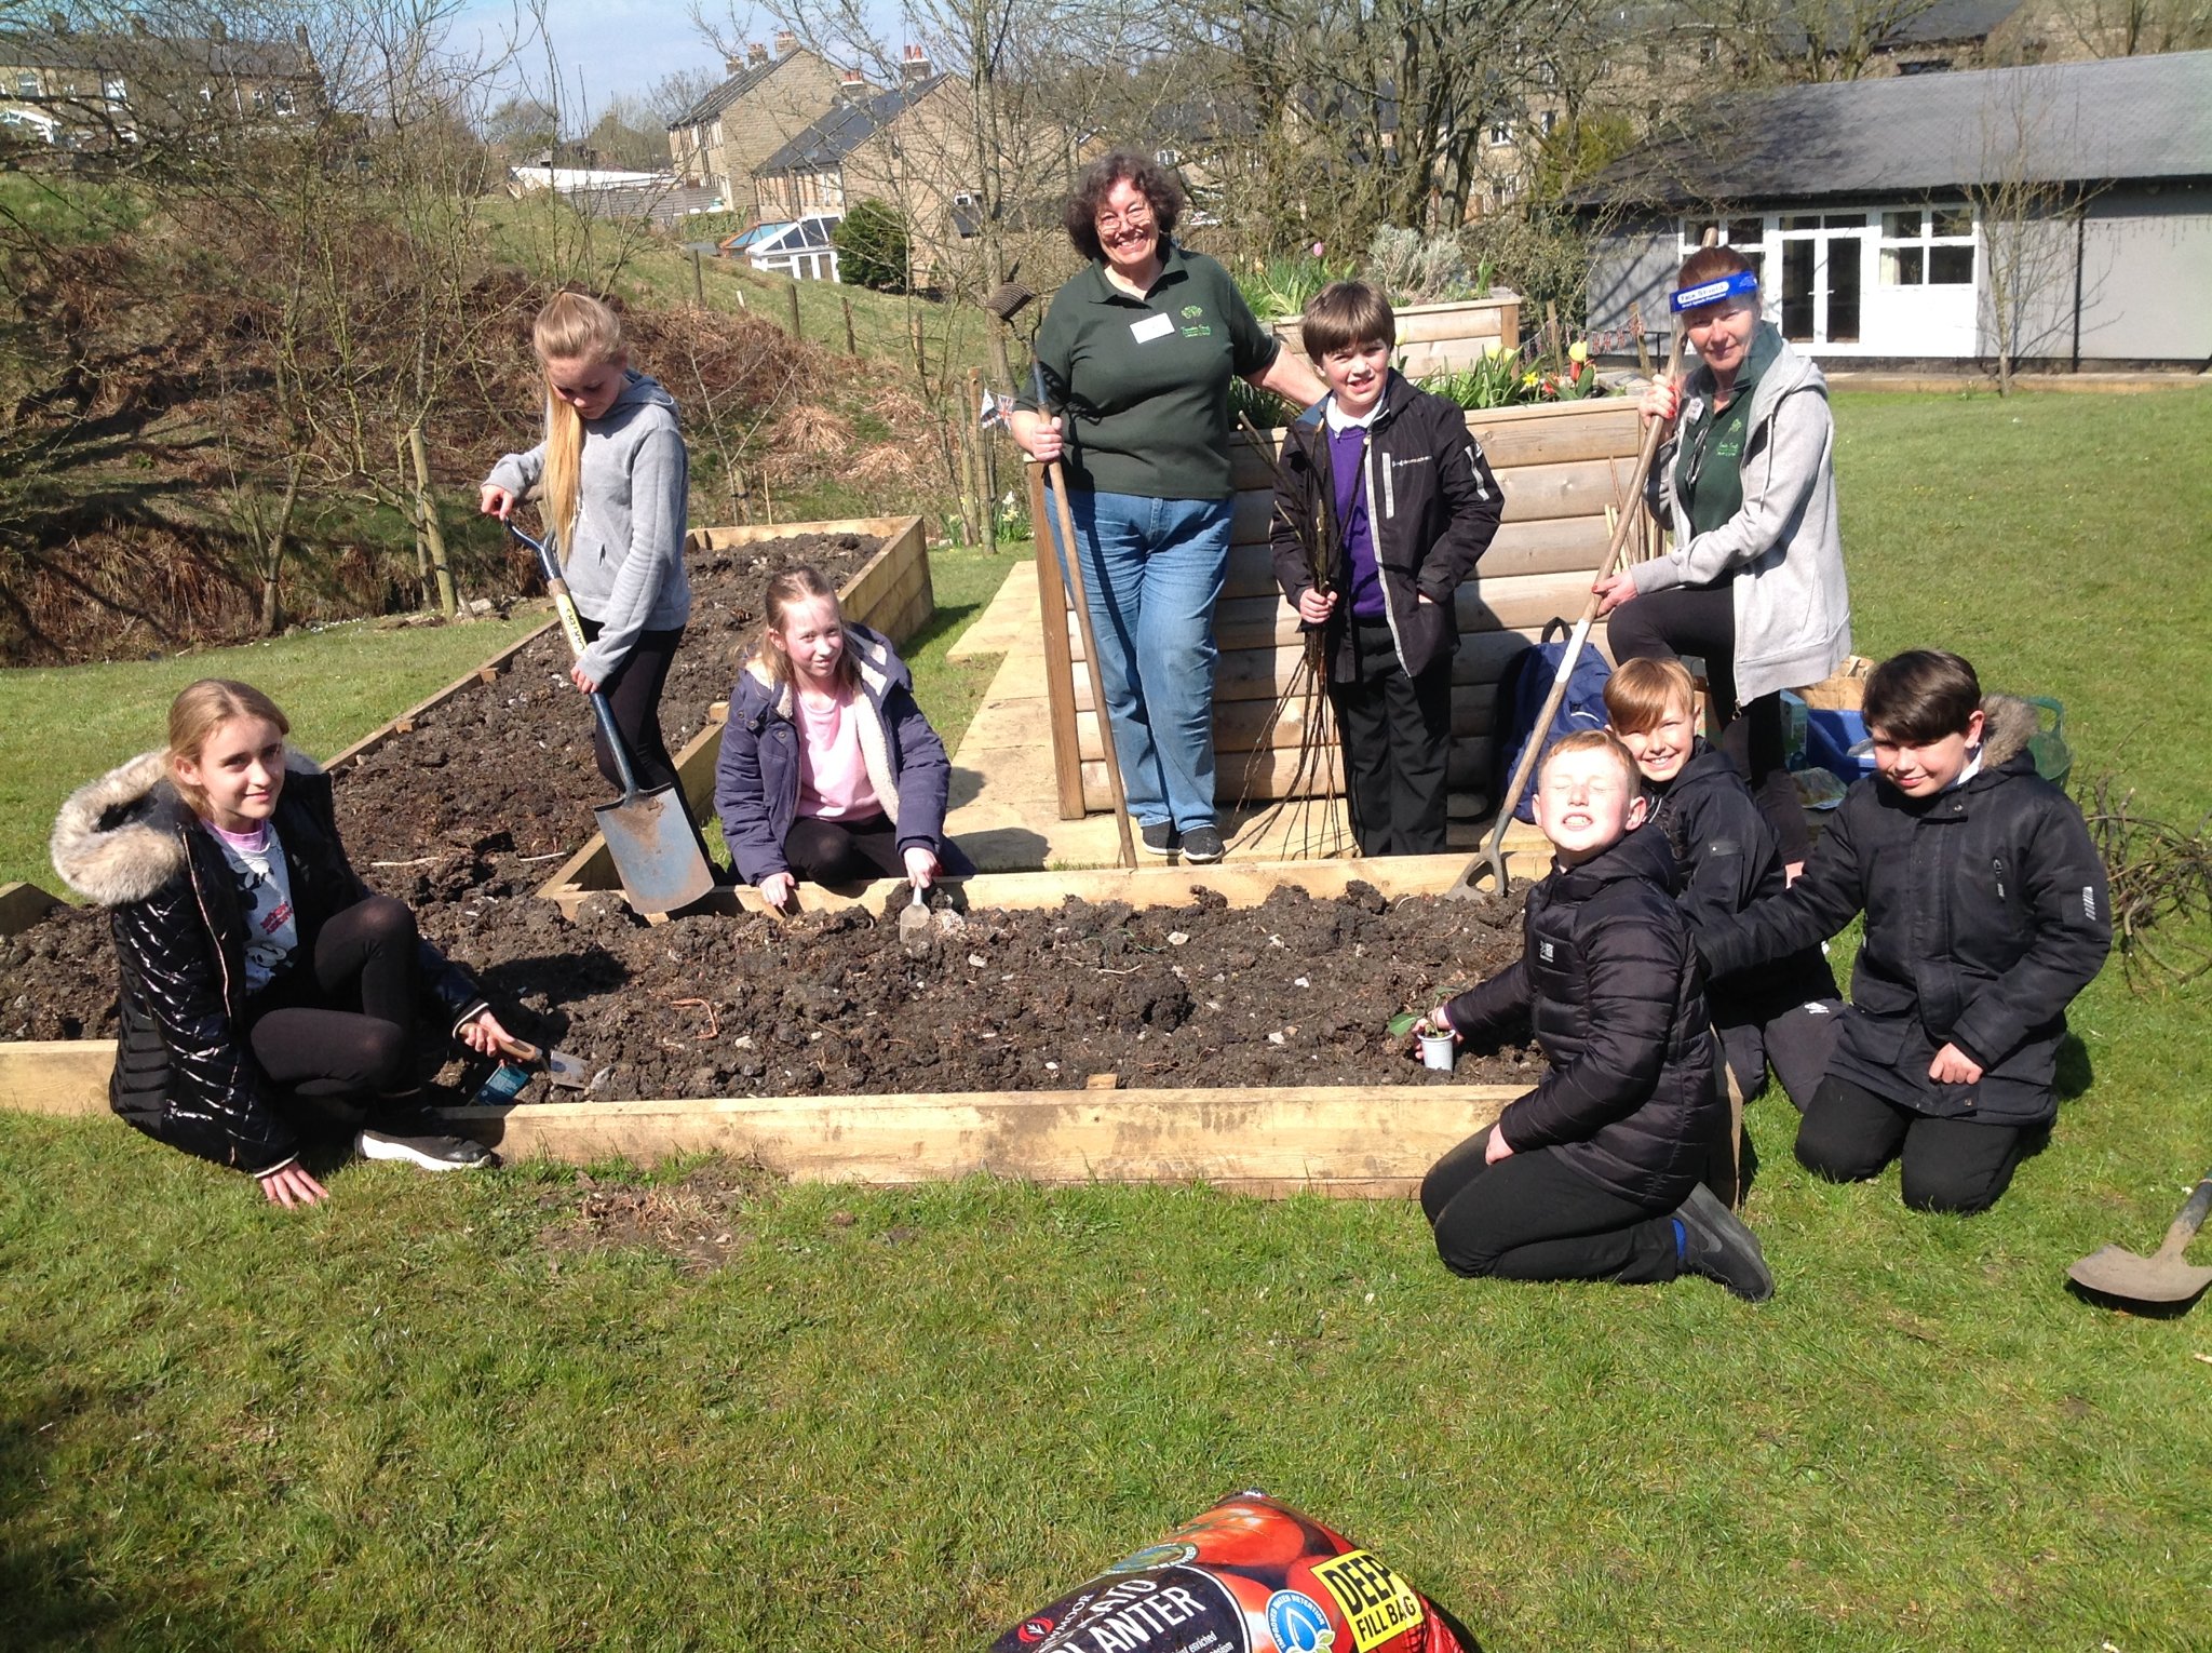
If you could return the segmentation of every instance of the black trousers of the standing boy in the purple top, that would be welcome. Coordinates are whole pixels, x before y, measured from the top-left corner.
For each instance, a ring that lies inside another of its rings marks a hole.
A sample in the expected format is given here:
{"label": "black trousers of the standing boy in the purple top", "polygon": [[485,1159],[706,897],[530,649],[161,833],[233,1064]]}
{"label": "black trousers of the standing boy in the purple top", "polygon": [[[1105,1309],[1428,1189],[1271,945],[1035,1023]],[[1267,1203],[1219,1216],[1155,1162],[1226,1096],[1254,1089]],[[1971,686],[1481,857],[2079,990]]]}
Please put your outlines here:
{"label": "black trousers of the standing boy in the purple top", "polygon": [[1444,854],[1451,655],[1409,677],[1389,622],[1358,617],[1352,651],[1356,677],[1329,684],[1352,836],[1360,854]]}

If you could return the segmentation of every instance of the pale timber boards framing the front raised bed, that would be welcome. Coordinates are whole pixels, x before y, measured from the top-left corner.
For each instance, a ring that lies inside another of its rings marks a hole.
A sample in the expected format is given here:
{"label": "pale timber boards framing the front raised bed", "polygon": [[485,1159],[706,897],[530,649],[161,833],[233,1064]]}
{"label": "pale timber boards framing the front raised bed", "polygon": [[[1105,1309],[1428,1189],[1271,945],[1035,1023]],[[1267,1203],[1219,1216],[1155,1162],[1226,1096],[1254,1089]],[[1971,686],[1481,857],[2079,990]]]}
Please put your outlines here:
{"label": "pale timber boards framing the front raised bed", "polygon": [[[1283,883],[1336,894],[1352,879],[1387,896],[1442,890],[1460,856],[1303,861],[1245,867],[1011,872],[947,881],[956,901],[1053,905],[1181,903],[1192,887],[1230,905],[1265,901]],[[856,896],[803,885],[810,905],[880,905],[902,885]],[[752,892],[726,892],[734,903]],[[0,909],[35,923],[35,901]],[[18,925],[9,925],[18,927]],[[113,1040],[0,1044],[0,1109],[102,1113]],[[1298,1191],[1405,1197],[1455,1142],[1498,1117],[1522,1087],[1221,1087],[971,1091],[933,1095],[699,1098],[668,1102],[540,1102],[451,1109],[453,1129],[509,1157],[653,1164],[672,1155],[752,1157],[794,1182],[911,1184],[969,1173],[1048,1184],[1208,1182],[1254,1195]]]}

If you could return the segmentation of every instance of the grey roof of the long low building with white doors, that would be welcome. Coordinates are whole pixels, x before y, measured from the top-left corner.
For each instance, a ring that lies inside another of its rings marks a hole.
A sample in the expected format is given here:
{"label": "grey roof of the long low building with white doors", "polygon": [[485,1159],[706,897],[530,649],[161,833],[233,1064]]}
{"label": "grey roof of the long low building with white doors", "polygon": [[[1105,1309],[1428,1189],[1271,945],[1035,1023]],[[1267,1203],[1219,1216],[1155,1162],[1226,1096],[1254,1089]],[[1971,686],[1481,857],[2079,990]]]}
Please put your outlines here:
{"label": "grey roof of the long low building with white doors", "polygon": [[2212,177],[2212,51],[1725,97],[1699,133],[1630,150],[1575,206],[2185,177]]}

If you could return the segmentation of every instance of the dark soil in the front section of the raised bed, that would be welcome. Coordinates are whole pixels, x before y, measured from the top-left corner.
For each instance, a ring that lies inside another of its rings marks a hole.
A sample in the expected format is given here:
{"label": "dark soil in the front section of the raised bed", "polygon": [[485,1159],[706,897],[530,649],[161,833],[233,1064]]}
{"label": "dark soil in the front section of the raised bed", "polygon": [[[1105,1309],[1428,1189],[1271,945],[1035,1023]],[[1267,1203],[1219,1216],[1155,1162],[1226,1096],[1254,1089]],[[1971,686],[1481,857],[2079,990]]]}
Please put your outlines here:
{"label": "dark soil in the front section of the raised bed", "polygon": [[[940,898],[942,901],[942,898]],[[639,923],[617,896],[564,923],[551,903],[478,896],[422,909],[526,1038],[593,1071],[599,1100],[1124,1087],[1515,1084],[1522,1047],[1427,1073],[1385,1022],[1480,980],[1520,949],[1520,903],[1336,898],[1259,907],[1064,901],[940,909],[907,949],[896,912],[858,907]],[[0,940],[0,1036],[113,1036],[97,914]],[[482,1062],[447,1060],[469,1091]],[[526,1093],[544,1100],[544,1082]]]}

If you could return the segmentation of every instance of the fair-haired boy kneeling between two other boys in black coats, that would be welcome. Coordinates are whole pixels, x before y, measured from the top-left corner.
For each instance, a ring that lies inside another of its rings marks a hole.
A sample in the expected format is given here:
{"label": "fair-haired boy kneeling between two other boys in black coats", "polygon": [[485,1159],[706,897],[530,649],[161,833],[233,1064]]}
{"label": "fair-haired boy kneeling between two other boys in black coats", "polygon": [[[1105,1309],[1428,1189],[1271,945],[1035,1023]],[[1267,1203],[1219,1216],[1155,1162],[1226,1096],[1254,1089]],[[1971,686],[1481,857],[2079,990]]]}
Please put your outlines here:
{"label": "fair-haired boy kneeling between two other boys in black coats", "polygon": [[[1606,679],[1606,724],[1652,799],[1650,825],[1674,852],[1674,901],[1692,927],[1734,918],[1785,890],[1781,841],[1728,752],[1697,735],[1697,684],[1679,659],[1624,659]],[[1767,1062],[1798,1113],[1836,1051],[1843,998],[1818,947],[1772,969],[1705,983],[1721,1056],[1745,1100],[1767,1089]]]}

